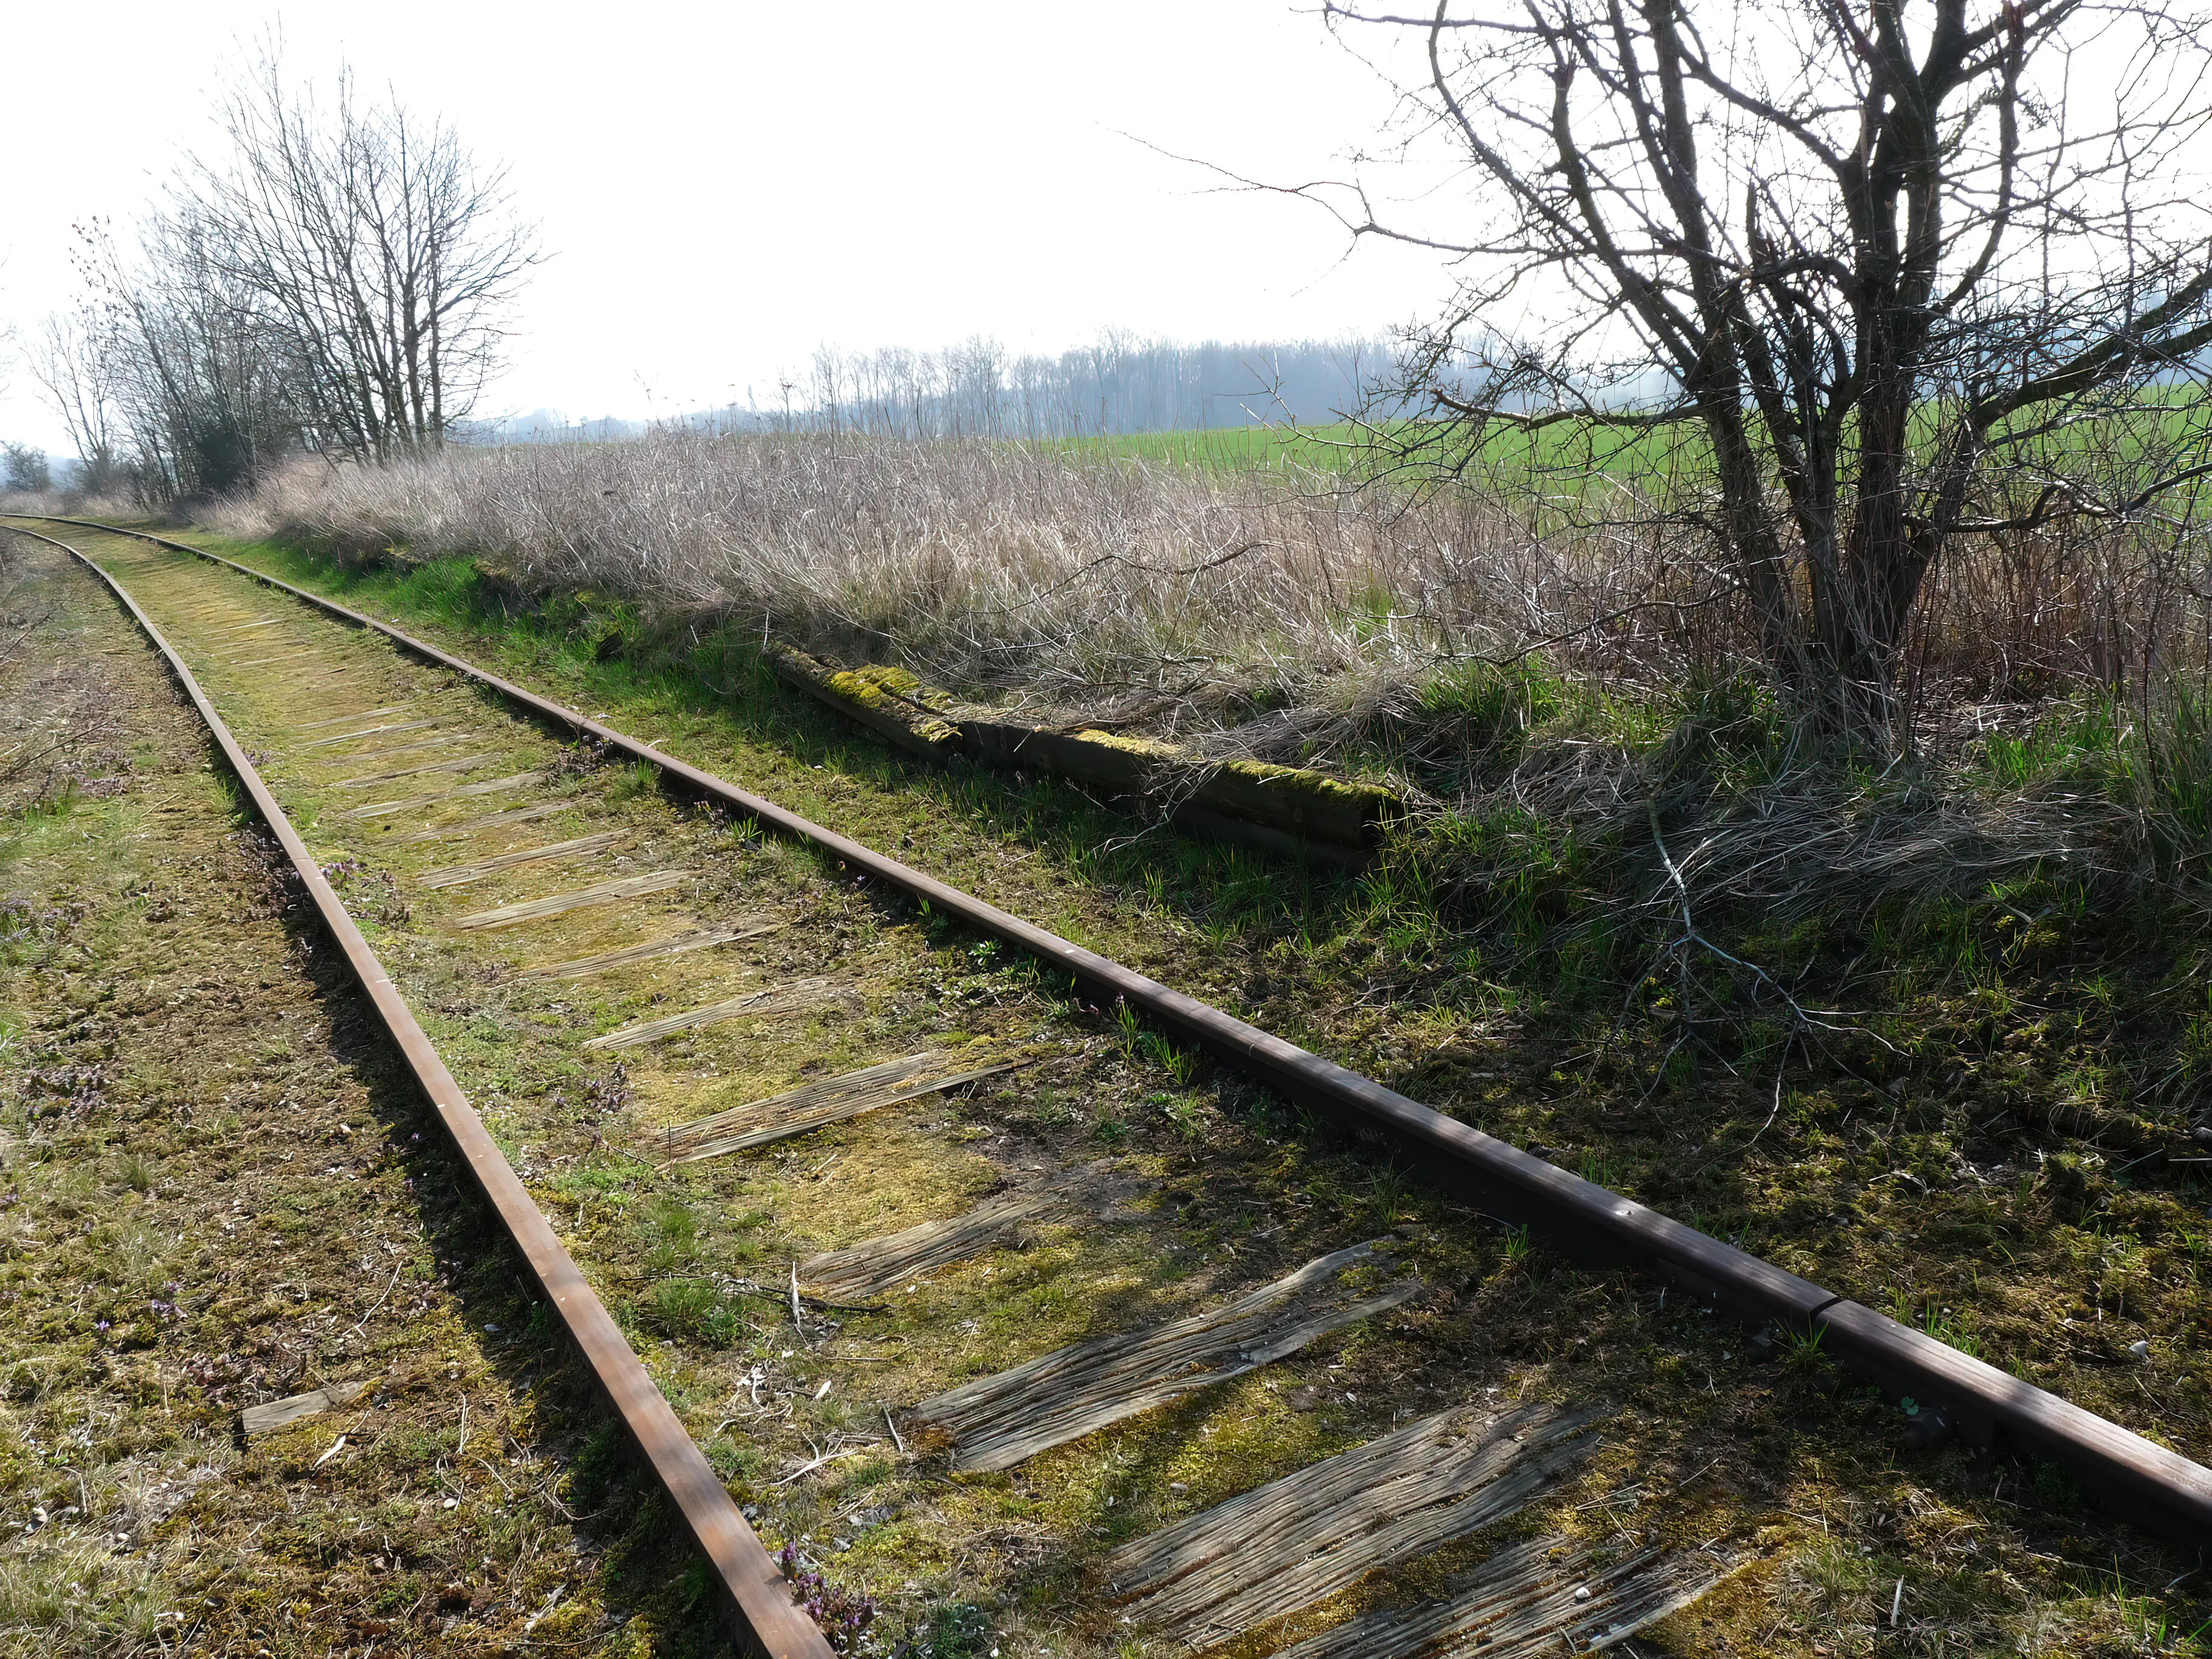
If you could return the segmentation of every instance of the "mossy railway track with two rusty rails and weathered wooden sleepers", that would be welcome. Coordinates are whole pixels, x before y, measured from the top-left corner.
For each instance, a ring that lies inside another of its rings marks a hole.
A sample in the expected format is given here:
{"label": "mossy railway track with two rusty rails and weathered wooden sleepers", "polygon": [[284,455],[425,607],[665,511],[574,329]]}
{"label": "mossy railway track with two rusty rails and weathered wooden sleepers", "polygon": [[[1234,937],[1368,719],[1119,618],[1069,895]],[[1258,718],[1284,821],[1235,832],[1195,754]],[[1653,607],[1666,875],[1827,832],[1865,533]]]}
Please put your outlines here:
{"label": "mossy railway track with two rusty rails and weathered wooden sleepers", "polygon": [[[1582,1652],[1725,1597],[1756,1502],[1692,1493],[1617,1400],[1469,1365],[1447,1287],[1517,1248],[1473,1210],[1663,1281],[1670,1318],[1688,1290],[1761,1340],[1818,1334],[1922,1429],[2212,1535],[2208,1471],[1942,1343],[385,624],[161,538],[66,535],[170,655],[768,1652],[843,1639],[872,1562],[1026,1586],[1046,1652]],[[1119,1044],[1086,998],[1126,1011]],[[1451,1203],[1407,1223],[1177,1179],[1097,1102],[1190,1048]],[[1121,1135],[1037,1133],[1068,1099]]]}

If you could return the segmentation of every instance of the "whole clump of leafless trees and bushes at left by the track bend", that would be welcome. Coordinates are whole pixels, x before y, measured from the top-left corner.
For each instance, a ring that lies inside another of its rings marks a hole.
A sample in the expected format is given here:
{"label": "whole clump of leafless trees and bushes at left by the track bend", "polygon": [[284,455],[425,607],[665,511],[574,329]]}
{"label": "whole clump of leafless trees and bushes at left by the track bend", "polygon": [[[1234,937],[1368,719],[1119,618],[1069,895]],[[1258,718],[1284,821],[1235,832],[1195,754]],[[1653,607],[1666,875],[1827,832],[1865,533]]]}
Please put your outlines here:
{"label": "whole clump of leafless trees and bushes at left by the track bend", "polygon": [[86,301],[33,374],[80,478],[221,493],[288,453],[389,460],[442,445],[500,367],[538,261],[504,175],[396,97],[330,104],[265,53],[221,100],[223,144],[137,226],[80,228]]}

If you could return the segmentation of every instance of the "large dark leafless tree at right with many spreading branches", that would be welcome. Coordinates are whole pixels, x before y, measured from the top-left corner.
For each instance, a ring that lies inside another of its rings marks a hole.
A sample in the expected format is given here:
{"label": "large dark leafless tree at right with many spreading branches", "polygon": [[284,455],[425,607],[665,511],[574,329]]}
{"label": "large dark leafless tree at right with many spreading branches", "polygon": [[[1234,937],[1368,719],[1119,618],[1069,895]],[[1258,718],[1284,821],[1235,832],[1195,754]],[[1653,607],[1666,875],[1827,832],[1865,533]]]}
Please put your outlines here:
{"label": "large dark leafless tree at right with many spreading branches", "polygon": [[1453,473],[1506,434],[1553,460],[1571,436],[1666,447],[1666,507],[1770,670],[1854,739],[1898,739],[1900,646],[1962,538],[2126,520],[2212,473],[2203,20],[1440,0],[1329,22],[1420,53],[1400,137],[1442,137],[1480,186],[1440,230],[1301,188],[1460,265],[1383,431]]}

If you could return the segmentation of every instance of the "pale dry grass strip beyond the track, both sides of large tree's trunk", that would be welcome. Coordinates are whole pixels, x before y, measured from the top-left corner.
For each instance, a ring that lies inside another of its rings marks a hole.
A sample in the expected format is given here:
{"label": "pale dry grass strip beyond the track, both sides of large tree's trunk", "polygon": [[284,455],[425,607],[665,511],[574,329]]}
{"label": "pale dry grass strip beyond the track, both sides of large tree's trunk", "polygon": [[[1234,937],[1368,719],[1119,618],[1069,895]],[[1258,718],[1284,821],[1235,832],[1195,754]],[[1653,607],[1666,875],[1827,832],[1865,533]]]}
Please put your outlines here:
{"label": "pale dry grass strip beyond the track, both sides of large tree's trunk", "polygon": [[[622,445],[301,462],[195,518],[341,560],[389,546],[898,657],[1048,706],[1172,697],[1376,712],[1469,661],[1666,699],[1752,661],[1694,533],[1586,478],[1478,495],[1199,471],[1004,442],[657,431]],[[1562,489],[1579,491],[1555,522]],[[1907,686],[1924,737],[2086,686],[2212,670],[2192,529],[1991,540],[1931,577]]]}

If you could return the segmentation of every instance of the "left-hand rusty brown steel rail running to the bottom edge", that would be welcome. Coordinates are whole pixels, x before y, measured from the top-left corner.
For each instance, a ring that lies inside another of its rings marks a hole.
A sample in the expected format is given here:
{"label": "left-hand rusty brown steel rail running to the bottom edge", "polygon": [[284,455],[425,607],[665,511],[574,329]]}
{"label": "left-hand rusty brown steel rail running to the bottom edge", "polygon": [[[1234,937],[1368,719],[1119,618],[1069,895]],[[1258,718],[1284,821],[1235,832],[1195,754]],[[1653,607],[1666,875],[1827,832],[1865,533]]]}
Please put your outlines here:
{"label": "left-hand rusty brown steel rail running to the bottom edge", "polygon": [[314,860],[314,854],[307,852],[307,843],[301,841],[283,807],[276,805],[276,796],[270,794],[254,763],[246,759],[246,750],[239,748],[223,717],[215,712],[215,703],[208,701],[192,670],[186,668],[184,659],[161,637],[161,630],[155,628],[153,619],[122,582],[100,568],[95,560],[51,535],[24,529],[15,529],[15,533],[58,546],[91,568],[93,575],[106,582],[115,599],[122,602],[137,626],[146,630],[155,650],[168,661],[170,672],[184,686],[186,697],[192,699],[230,770],[237,772],[239,783],[252,796],[254,810],[276,834],[276,841],[283,843],[292,869],[305,885],[307,896],[314,898],[323,927],[330,929],[338,949],[345,951],[354,978],[367,991],[369,1002],[376,1004],[376,1015],[385,1022],[385,1031],[398,1044],[407,1068],[416,1075],[438,1119],[453,1137],[453,1146],[467,1161],[469,1175],[476,1177],[478,1188],[500,1217],[500,1225],[507,1228],[507,1234],[529,1263],[538,1290],[560,1312],[593,1378],[606,1391],[608,1402],[630,1431],[655,1480],[659,1480],[668,1500],[684,1517],[684,1526],[690,1531],[692,1542],[699,1544],[699,1553],[706,1555],[723,1593],[723,1615],[739,1641],[752,1652],[768,1655],[768,1659],[832,1659],[834,1650],[827,1637],[792,1601],[790,1582],[776,1571],[774,1557],[770,1557],[759,1535],[739,1513],[706,1455],[701,1455],[690,1433],[677,1420],[677,1413],[668,1407],[666,1396],[661,1396],[659,1387],[646,1374],[646,1367],[639,1365],[637,1354],[606,1312],[606,1305],[584,1283],[584,1274],[577,1272],[575,1261],[562,1248],[544,1212],[531,1201],[507,1155],[484,1128],[484,1119],[469,1106],[460,1084],[453,1082],[453,1073],[438,1057],[436,1046],[431,1046],[429,1035],[416,1022],[407,1000],[392,984],[392,978],[376,960],[376,953],[338,900],[338,894],[323,878],[323,869]]}

